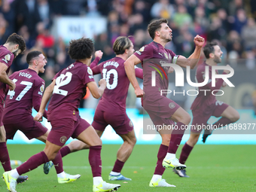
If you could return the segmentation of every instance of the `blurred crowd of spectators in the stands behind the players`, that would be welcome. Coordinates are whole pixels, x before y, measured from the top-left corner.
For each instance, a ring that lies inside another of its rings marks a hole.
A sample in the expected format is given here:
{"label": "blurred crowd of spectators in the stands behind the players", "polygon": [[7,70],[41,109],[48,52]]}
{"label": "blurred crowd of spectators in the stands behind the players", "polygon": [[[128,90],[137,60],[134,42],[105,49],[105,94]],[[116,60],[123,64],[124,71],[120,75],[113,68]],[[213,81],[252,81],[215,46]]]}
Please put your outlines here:
{"label": "blurred crowd of spectators in the stands behind the players", "polygon": [[[27,51],[41,50],[47,56],[46,84],[59,69],[72,62],[62,38],[50,34],[54,17],[103,16],[107,32],[95,35],[95,49],[102,50],[102,61],[114,56],[111,49],[119,35],[132,35],[135,50],[152,40],[147,26],[151,20],[166,18],[173,41],[166,45],[175,53],[189,56],[194,36],[218,40],[224,59],[247,59],[254,69],[256,56],[256,1],[254,0],[1,0],[0,44],[13,32],[23,35]],[[100,23],[99,23],[100,24]],[[14,60],[12,70],[26,69],[26,53]]]}

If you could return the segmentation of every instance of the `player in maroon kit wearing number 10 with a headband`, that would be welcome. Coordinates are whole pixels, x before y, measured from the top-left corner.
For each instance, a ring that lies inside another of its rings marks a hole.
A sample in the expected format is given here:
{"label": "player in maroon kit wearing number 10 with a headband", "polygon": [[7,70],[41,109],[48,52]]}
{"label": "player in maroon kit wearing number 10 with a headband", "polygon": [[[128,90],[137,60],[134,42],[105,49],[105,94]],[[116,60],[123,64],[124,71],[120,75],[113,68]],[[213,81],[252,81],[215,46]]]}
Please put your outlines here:
{"label": "player in maroon kit wearing number 10 with a headband", "polygon": [[[116,56],[96,66],[96,62],[90,66],[93,75],[102,74],[102,78],[107,81],[107,87],[102,98],[97,105],[92,126],[99,136],[105,130],[105,127],[111,125],[114,131],[123,139],[123,145],[117,151],[117,160],[114,168],[108,176],[111,181],[131,180],[124,177],[120,172],[123,165],[130,157],[133,147],[136,144],[136,136],[133,130],[133,122],[126,114],[126,97],[130,81],[126,76],[123,62],[134,53],[133,42],[129,38],[120,36],[113,44]],[[136,77],[143,78],[143,71],[136,67]],[[62,157],[81,149],[89,148],[80,141],[73,141],[69,145],[60,149]]]}

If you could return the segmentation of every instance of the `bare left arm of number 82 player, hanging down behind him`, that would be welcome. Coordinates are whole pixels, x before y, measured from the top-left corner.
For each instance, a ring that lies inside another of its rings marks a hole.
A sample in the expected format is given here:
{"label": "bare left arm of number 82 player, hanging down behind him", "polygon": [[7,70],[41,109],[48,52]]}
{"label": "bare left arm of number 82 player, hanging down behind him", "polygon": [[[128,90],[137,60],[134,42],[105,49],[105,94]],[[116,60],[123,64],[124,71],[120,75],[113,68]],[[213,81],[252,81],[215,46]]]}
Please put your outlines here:
{"label": "bare left arm of number 82 player, hanging down behind him", "polygon": [[50,96],[53,95],[55,81],[56,81],[56,79],[54,79],[53,82],[51,82],[51,84],[45,89],[44,96],[41,99],[41,105],[40,105],[38,114],[35,115],[34,120],[37,120],[39,122],[41,122],[43,120],[44,110],[46,108],[47,102],[50,100]]}

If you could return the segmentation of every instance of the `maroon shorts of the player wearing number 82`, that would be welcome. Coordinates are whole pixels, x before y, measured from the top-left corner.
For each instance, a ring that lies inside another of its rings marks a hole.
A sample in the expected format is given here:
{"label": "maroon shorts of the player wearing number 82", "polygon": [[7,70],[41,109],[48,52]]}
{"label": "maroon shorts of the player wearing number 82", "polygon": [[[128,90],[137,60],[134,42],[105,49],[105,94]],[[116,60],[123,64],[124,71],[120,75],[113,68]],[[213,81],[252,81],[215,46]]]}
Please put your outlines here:
{"label": "maroon shorts of the player wearing number 82", "polygon": [[82,119],[80,116],[78,117],[77,121],[66,118],[51,120],[50,124],[52,128],[47,137],[47,141],[61,147],[65,145],[66,141],[70,137],[74,139],[77,138],[84,130],[90,126],[90,123]]}

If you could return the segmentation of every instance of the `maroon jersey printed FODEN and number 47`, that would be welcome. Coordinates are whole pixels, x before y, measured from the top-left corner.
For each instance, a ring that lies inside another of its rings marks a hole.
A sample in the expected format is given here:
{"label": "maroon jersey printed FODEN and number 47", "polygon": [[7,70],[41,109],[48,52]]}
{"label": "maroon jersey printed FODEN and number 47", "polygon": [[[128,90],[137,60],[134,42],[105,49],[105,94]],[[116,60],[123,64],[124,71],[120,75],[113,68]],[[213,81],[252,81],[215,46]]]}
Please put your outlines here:
{"label": "maroon jersey printed FODEN and number 47", "polygon": [[31,115],[35,103],[40,105],[44,93],[44,80],[32,69],[14,72],[10,79],[16,84],[15,90],[9,90],[5,99],[4,117]]}

